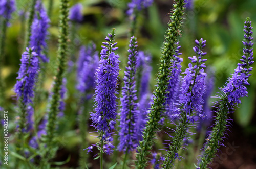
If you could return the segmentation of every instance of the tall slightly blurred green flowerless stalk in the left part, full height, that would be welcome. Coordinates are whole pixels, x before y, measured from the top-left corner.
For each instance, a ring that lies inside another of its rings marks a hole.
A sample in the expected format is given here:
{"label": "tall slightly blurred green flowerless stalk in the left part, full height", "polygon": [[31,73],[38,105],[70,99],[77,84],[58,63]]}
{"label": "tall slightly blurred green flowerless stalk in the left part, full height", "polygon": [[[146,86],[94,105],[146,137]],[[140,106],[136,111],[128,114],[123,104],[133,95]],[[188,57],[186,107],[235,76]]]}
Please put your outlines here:
{"label": "tall slightly blurred green flowerless stalk in the left part, full height", "polygon": [[68,52],[68,34],[69,34],[69,25],[68,25],[68,9],[69,0],[61,0],[60,4],[60,16],[59,16],[59,47],[58,47],[58,68],[57,73],[54,78],[54,85],[52,89],[52,99],[50,102],[49,114],[48,114],[48,123],[46,126],[46,137],[45,144],[46,147],[42,146],[42,162],[41,168],[47,165],[48,161],[55,156],[56,145],[55,142],[55,130],[57,125],[57,114],[59,112],[59,100],[60,100],[60,89],[62,84],[62,79],[66,70],[66,60],[67,60],[67,52]]}

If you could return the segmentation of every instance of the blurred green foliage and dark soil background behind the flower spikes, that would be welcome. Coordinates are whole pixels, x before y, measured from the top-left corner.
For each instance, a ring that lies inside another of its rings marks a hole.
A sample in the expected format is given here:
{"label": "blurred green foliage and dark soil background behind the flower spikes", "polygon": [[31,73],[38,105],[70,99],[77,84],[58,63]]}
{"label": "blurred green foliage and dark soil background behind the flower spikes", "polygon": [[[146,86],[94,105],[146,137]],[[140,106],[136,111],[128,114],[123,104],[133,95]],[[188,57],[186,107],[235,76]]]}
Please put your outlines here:
{"label": "blurred green foliage and dark soil background behind the flower spikes", "polygon": [[[9,116],[12,122],[15,121],[15,94],[13,86],[16,83],[17,71],[19,70],[20,56],[23,50],[23,42],[25,35],[25,23],[22,22],[23,15],[21,11],[28,11],[29,0],[16,1],[17,11],[12,15],[11,26],[8,28],[6,38],[6,48],[4,56],[3,78],[6,84],[6,107],[12,114]],[[123,70],[127,61],[127,44],[129,40],[130,18],[126,15],[127,0],[81,0],[70,1],[70,6],[81,3],[83,6],[83,20],[76,23],[75,38],[70,42],[69,55],[78,57],[79,47],[83,44],[94,42],[98,51],[101,50],[101,44],[104,37],[116,28],[116,42],[119,49],[116,51],[120,56],[120,68],[122,69],[120,77],[123,77]],[[44,1],[48,7],[48,1]],[[56,70],[57,62],[57,42],[58,42],[58,14],[60,1],[54,1],[53,14],[51,16],[51,27],[49,29],[49,58],[50,62],[46,65],[47,78],[44,82],[46,91],[50,90],[53,76]],[[138,49],[151,53],[152,61],[152,78],[151,90],[156,84],[157,63],[160,56],[160,49],[164,41],[164,34],[169,20],[169,12],[172,9],[173,1],[170,0],[154,0],[151,7],[140,11],[137,22],[135,36],[138,40]],[[189,60],[188,56],[193,56],[193,47],[195,39],[203,38],[206,42],[206,65],[210,67],[213,73],[211,84],[214,85],[214,92],[219,92],[225,81],[230,77],[237,67],[237,63],[243,53],[243,25],[246,17],[250,17],[252,27],[256,28],[256,1],[255,0],[195,0],[193,5],[186,10],[184,26],[182,28],[182,37],[179,38],[182,46],[180,52],[184,59],[182,70],[187,68]],[[26,15],[25,15],[26,17]],[[254,36],[255,37],[255,36]],[[69,62],[69,66],[72,66]],[[212,168],[256,168],[256,113],[255,113],[255,92],[256,92],[256,73],[252,72],[249,78],[250,86],[248,86],[248,98],[242,98],[242,104],[239,105],[234,113],[230,115],[233,119],[233,126],[228,131],[227,138],[224,142],[225,146],[231,145],[232,153],[225,153],[227,148],[221,147],[219,159],[216,159]],[[75,168],[78,158],[79,139],[77,135],[76,125],[76,103],[77,98],[75,89],[76,78],[74,73],[67,73],[68,92],[66,96],[65,118],[59,123],[59,144],[60,149],[56,160],[63,161],[71,156],[67,164],[60,167]],[[44,114],[47,105],[47,94],[42,98],[41,109],[38,110]],[[208,102],[211,105],[215,98],[211,98]],[[12,124],[14,131],[15,124]],[[93,128],[90,128],[93,131]],[[161,136],[161,134],[160,134]],[[160,137],[159,136],[159,137]],[[90,138],[93,143],[93,138]],[[161,141],[160,141],[161,143]],[[160,146],[161,147],[161,146]],[[230,146],[229,146],[230,147]],[[158,149],[156,146],[154,149]],[[96,150],[97,151],[97,150]],[[189,152],[189,151],[188,151]],[[93,156],[96,153],[91,153]],[[185,154],[189,156],[189,154]],[[91,157],[93,158],[93,157]],[[196,157],[194,158],[194,160]],[[118,159],[117,159],[118,161]],[[196,161],[194,161],[196,163]],[[97,160],[92,159],[93,168],[97,168]],[[181,168],[194,168],[194,165],[184,164]]]}

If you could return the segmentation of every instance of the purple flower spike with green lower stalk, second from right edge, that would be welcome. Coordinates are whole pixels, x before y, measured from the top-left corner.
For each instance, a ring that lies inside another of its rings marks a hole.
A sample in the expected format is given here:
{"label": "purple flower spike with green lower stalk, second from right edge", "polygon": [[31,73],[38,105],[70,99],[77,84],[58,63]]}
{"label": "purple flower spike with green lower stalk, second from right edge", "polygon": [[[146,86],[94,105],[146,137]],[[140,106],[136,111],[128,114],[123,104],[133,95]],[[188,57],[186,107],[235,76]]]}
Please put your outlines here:
{"label": "purple flower spike with green lower stalk, second from right edge", "polygon": [[[199,41],[196,40],[195,42],[197,45],[193,47],[193,49],[198,57],[188,57],[192,63],[196,64],[194,66],[191,63],[188,64],[188,68],[185,71],[186,75],[181,85],[182,93],[179,100],[181,108],[174,107],[171,115],[171,117],[179,119],[179,124],[175,129],[175,136],[173,137],[172,143],[169,144],[169,150],[164,156],[163,168],[171,168],[175,159],[179,159],[178,151],[185,139],[189,124],[193,124],[198,118],[203,118],[202,95],[206,90],[206,73],[204,73],[206,66],[204,62],[207,59],[202,59],[202,57],[206,55],[202,49],[206,45],[206,40],[201,38]],[[198,115],[196,113],[198,113]]]}

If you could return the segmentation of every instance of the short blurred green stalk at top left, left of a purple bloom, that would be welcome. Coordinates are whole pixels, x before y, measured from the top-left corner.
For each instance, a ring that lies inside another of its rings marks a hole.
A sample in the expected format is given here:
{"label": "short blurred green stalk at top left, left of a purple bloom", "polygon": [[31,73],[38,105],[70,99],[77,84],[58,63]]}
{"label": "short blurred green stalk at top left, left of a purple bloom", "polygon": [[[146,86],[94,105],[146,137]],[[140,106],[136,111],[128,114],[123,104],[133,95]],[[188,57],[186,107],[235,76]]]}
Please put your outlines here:
{"label": "short blurred green stalk at top left, left of a purple bloom", "polygon": [[27,25],[27,32],[26,32],[26,37],[25,37],[25,45],[24,45],[24,51],[26,50],[26,47],[29,47],[29,42],[30,42],[30,36],[31,36],[31,25],[34,19],[34,14],[35,14],[35,4],[36,0],[32,0],[31,6],[30,6],[30,11],[29,11],[29,18],[28,18],[28,25]]}

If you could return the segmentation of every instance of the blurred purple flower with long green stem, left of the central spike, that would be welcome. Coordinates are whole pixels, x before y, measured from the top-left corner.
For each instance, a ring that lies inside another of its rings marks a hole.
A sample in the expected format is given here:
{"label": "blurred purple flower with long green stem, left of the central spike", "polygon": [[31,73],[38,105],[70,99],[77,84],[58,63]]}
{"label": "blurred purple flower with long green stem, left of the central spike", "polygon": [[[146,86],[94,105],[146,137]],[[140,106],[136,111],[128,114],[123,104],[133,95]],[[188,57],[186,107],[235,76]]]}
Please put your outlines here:
{"label": "blurred purple flower with long green stem, left of the central spike", "polygon": [[[99,56],[96,52],[95,44],[88,46],[81,46],[79,59],[77,61],[77,85],[76,88],[80,93],[79,105],[79,131],[81,136],[81,148],[89,146],[87,133],[88,133],[88,120],[89,112],[92,110],[92,93],[96,86],[95,72],[99,65]],[[87,152],[80,149],[79,165],[86,168],[88,162]]]}

